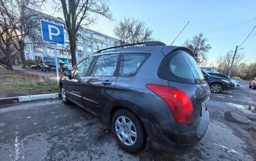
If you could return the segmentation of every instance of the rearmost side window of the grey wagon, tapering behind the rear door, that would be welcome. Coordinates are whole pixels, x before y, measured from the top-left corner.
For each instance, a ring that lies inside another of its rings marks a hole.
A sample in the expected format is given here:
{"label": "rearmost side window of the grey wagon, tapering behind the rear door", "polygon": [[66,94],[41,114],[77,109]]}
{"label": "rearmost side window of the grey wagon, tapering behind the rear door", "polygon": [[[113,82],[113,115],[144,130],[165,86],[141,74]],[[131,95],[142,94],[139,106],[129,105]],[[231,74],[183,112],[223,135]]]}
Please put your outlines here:
{"label": "rearmost side window of the grey wagon, tapering behind the rear door", "polygon": [[147,60],[150,54],[125,53],[121,54],[120,76],[135,76],[139,68]]}

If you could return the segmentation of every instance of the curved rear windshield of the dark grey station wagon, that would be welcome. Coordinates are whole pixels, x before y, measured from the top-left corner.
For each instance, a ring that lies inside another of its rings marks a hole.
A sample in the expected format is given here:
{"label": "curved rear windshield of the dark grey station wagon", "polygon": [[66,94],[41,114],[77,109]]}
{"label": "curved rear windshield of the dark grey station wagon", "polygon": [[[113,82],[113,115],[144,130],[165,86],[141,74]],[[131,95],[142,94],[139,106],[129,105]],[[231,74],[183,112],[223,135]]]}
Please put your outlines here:
{"label": "curved rear windshield of the dark grey station wagon", "polygon": [[204,76],[195,59],[182,50],[168,54],[161,63],[159,77],[165,80],[204,84]]}

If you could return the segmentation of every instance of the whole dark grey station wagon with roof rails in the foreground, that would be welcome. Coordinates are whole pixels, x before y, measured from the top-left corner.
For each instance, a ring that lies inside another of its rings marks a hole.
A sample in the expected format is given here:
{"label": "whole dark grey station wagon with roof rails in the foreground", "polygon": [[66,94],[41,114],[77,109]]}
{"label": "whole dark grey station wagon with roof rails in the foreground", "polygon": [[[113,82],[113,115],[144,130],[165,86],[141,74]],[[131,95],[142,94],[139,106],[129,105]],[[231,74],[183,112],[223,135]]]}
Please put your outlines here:
{"label": "whole dark grey station wagon with roof rails in the foreground", "polygon": [[162,42],[99,50],[64,72],[62,99],[108,122],[131,153],[187,153],[207,131],[211,94],[193,57]]}

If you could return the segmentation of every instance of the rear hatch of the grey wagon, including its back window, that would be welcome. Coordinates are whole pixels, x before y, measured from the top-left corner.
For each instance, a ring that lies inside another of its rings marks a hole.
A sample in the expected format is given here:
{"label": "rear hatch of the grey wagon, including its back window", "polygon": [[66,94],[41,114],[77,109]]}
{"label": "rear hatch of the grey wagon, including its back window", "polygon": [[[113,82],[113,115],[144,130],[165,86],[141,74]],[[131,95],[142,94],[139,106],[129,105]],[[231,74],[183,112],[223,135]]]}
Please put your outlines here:
{"label": "rear hatch of the grey wagon, including its back window", "polygon": [[196,126],[205,111],[205,104],[209,100],[211,91],[191,55],[193,53],[188,53],[188,50],[176,50],[166,54],[159,67],[158,75],[168,80],[170,86],[188,94],[193,104],[194,126]]}

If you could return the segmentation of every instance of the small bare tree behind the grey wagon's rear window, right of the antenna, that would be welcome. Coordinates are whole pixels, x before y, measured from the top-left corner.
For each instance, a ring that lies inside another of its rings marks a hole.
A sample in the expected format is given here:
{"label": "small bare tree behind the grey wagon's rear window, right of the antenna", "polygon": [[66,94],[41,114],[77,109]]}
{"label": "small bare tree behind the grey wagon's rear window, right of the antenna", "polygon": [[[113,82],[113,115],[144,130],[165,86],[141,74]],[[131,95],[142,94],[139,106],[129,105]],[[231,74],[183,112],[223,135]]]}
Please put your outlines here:
{"label": "small bare tree behind the grey wagon's rear window, right of the antenna", "polygon": [[195,54],[195,61],[200,65],[204,62],[205,54],[212,48],[207,44],[208,38],[203,38],[203,34],[195,35],[191,40],[187,39],[184,46],[191,49]]}

